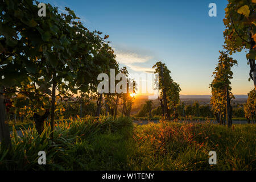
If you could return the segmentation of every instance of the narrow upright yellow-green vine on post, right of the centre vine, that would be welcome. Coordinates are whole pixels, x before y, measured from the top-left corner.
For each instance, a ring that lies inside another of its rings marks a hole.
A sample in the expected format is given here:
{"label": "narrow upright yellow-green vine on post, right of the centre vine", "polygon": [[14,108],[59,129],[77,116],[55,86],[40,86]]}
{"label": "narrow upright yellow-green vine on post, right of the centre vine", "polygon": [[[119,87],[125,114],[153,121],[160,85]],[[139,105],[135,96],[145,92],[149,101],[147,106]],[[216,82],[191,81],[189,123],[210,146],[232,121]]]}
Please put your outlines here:
{"label": "narrow upright yellow-green vine on post, right of the centre vine", "polygon": [[220,51],[219,61],[213,72],[214,78],[210,84],[210,88],[212,88],[210,103],[213,106],[213,111],[218,114],[217,120],[220,121],[221,125],[225,123],[225,117],[227,118],[228,127],[232,126],[232,106],[230,105],[230,100],[234,98],[230,92],[232,90],[230,79],[233,78],[231,68],[236,64],[237,60]]}

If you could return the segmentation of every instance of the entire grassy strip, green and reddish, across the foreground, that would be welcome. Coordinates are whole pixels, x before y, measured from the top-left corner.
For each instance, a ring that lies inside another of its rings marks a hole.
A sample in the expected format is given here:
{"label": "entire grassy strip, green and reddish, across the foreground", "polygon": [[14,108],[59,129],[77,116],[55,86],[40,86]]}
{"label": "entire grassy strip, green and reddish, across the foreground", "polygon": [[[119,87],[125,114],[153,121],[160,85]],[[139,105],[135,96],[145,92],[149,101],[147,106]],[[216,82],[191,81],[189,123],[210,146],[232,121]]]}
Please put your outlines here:
{"label": "entire grassy strip, green and reddish, across the foreground", "polygon": [[[14,129],[15,130],[15,129]],[[256,125],[232,129],[210,123],[133,124],[130,118],[76,119],[41,135],[14,132],[13,150],[0,150],[0,169],[46,170],[255,170]],[[44,150],[47,165],[38,165]],[[209,165],[209,151],[217,165]]]}

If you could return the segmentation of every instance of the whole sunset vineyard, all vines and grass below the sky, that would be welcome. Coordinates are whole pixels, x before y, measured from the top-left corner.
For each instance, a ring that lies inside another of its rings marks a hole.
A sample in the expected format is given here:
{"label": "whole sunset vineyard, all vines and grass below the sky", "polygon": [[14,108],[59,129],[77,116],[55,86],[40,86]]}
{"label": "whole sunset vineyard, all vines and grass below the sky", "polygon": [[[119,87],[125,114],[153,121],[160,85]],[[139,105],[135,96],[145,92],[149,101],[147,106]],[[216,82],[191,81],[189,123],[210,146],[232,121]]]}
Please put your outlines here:
{"label": "whole sunset vineyard, all vines and grass below the sky", "polygon": [[[211,96],[189,103],[167,60],[150,65],[157,98],[138,100],[140,83],[109,35],[68,7],[39,3],[0,1],[1,171],[255,171],[256,1],[227,1]],[[236,103],[232,55],[242,51],[253,83]]]}

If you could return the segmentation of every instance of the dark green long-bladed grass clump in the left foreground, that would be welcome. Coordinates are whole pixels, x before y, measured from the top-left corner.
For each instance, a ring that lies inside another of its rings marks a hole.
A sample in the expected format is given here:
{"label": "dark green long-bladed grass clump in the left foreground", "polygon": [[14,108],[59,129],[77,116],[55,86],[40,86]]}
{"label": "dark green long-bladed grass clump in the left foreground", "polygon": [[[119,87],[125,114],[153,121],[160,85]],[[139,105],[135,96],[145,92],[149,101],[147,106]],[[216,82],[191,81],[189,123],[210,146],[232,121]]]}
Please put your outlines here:
{"label": "dark green long-bladed grass clump in the left foreground", "polygon": [[[113,119],[110,116],[98,119],[87,117],[71,119],[71,122],[59,121],[55,124],[53,140],[50,138],[49,124],[44,125],[42,134],[38,134],[35,126],[22,130],[23,137],[19,137],[13,127],[12,149],[0,150],[1,170],[52,170],[52,169],[84,169],[81,158],[92,155],[93,138],[96,135],[111,134],[122,127],[131,126],[129,118]],[[45,151],[47,165],[38,164],[38,152]],[[81,156],[81,158],[80,158]]]}

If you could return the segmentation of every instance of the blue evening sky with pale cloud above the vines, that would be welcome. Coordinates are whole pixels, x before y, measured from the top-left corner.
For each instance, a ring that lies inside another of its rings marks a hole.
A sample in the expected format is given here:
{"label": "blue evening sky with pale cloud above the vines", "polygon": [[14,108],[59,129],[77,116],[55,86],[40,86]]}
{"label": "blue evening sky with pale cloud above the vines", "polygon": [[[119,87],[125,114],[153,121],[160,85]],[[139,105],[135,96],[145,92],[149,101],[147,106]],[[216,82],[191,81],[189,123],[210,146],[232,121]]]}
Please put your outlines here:
{"label": "blue evening sky with pale cloud above the vines", "polygon": [[[165,63],[180,94],[210,94],[212,72],[224,45],[226,0],[194,1],[68,1],[42,0],[64,11],[74,10],[89,30],[109,35],[120,67],[129,73],[152,71],[156,61]],[[210,17],[210,3],[217,16]],[[233,94],[247,94],[254,88],[248,81],[246,53],[232,55]]]}

